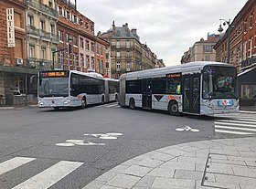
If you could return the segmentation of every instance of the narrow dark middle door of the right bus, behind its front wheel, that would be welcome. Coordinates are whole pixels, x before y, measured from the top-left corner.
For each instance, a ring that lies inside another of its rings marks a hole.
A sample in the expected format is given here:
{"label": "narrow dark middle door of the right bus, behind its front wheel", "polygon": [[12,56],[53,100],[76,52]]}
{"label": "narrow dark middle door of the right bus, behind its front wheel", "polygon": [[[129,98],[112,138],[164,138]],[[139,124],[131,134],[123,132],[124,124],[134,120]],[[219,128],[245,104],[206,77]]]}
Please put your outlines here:
{"label": "narrow dark middle door of the right bus, behind its front wheel", "polygon": [[143,80],[143,108],[152,109],[152,80]]}

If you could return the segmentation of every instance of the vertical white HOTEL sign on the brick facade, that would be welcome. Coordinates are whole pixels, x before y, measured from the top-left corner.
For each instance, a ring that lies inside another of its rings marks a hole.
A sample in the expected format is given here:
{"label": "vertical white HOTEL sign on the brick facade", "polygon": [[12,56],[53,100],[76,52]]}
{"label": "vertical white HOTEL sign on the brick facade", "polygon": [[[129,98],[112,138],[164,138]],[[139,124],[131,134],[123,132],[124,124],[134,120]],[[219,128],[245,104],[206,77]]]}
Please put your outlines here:
{"label": "vertical white HOTEL sign on the brick facade", "polygon": [[7,44],[8,44],[8,47],[16,47],[14,8],[6,9],[6,19],[7,19]]}

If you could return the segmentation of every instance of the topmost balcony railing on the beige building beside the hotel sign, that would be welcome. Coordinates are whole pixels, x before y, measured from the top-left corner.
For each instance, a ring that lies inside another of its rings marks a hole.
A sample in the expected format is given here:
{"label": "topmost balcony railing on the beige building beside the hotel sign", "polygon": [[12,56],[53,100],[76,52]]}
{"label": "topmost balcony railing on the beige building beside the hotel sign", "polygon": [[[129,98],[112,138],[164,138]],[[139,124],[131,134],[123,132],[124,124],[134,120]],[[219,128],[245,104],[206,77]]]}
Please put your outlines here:
{"label": "topmost balcony railing on the beige building beside the hotel sign", "polygon": [[44,4],[40,4],[38,1],[36,0],[27,0],[26,1],[26,5],[27,6],[31,6],[45,14],[48,14],[50,16],[54,16],[54,17],[58,17],[58,12],[57,10],[49,7],[48,5],[44,5]]}

